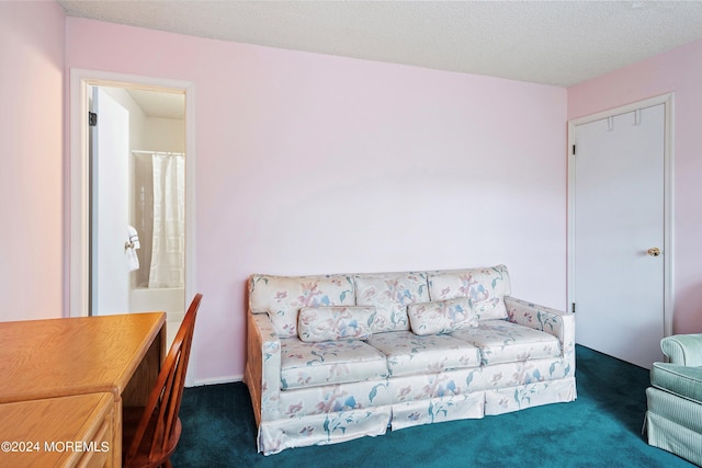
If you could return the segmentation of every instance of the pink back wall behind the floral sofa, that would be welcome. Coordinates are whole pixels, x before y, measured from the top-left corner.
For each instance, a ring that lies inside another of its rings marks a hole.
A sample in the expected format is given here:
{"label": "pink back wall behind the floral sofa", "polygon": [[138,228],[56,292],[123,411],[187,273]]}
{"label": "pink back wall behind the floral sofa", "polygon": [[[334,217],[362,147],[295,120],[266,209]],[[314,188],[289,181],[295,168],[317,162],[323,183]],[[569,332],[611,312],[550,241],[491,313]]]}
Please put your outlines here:
{"label": "pink back wall behind the floral sofa", "polygon": [[194,83],[196,381],[242,374],[251,273],[503,262],[565,307],[565,89],[72,18],[66,50]]}

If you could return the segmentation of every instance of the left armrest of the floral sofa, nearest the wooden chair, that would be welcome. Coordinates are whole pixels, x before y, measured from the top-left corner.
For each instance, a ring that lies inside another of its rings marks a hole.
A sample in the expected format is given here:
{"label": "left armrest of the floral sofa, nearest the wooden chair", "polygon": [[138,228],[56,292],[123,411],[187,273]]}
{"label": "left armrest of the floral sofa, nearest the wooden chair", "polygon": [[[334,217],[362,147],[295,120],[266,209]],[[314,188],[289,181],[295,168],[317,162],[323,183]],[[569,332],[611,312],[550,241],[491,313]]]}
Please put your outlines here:
{"label": "left armrest of the floral sofa, nearest the wooden chair", "polygon": [[281,341],[265,313],[248,313],[244,380],[249,387],[257,425],[278,419],[281,392]]}

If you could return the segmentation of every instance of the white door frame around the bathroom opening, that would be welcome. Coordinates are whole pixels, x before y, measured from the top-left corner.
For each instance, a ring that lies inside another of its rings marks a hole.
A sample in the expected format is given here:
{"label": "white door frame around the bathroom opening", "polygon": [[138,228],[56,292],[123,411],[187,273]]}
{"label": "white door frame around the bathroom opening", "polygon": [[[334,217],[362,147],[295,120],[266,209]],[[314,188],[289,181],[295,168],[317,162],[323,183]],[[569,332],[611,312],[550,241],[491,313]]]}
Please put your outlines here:
{"label": "white door frame around the bathroom opening", "polygon": [[90,310],[90,151],[88,87],[178,90],[185,94],[185,297],[196,290],[195,278],[195,90],[192,82],[99,70],[70,69],[70,241],[69,317]]}

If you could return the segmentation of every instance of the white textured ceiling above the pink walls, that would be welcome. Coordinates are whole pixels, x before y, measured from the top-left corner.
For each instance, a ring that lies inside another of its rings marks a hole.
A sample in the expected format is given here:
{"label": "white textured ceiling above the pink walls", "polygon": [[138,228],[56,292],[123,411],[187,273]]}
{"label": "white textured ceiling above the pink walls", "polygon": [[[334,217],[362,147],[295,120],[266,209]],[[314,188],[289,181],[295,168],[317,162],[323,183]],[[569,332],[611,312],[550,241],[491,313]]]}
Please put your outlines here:
{"label": "white textured ceiling above the pink walls", "polygon": [[702,38],[702,1],[58,3],[71,16],[561,87]]}

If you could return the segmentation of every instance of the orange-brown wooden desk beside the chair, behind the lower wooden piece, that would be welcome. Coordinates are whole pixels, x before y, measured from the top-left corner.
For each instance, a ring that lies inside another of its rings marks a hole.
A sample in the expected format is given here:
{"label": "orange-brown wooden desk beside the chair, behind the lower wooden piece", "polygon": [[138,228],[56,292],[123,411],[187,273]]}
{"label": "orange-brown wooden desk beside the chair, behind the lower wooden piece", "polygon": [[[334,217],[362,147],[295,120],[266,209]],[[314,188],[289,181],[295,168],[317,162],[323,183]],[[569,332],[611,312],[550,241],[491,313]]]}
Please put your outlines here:
{"label": "orange-brown wooden desk beside the chair, behind the lower wooden piece", "polygon": [[[144,406],[166,353],[166,313],[0,323],[0,403],[110,392],[114,466],[122,406]],[[0,441],[1,442],[1,441]]]}

